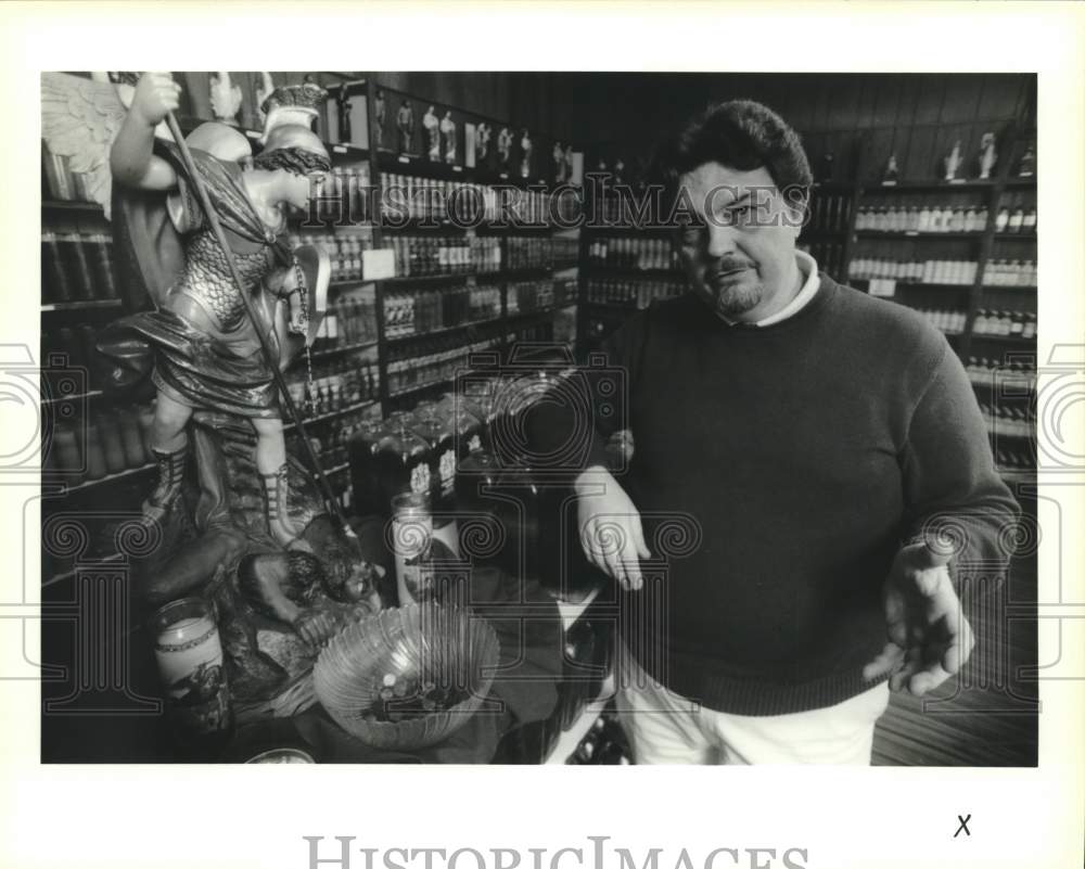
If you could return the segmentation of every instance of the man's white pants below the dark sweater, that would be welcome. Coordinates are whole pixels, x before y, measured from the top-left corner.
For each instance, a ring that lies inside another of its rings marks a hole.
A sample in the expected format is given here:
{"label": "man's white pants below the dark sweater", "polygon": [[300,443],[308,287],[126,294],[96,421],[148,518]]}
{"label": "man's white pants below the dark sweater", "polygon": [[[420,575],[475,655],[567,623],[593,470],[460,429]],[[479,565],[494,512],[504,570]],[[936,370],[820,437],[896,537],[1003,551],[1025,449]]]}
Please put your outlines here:
{"label": "man's white pants below the dark sweater", "polygon": [[664,688],[617,647],[617,710],[638,764],[870,764],[886,682],[820,710],[730,715]]}

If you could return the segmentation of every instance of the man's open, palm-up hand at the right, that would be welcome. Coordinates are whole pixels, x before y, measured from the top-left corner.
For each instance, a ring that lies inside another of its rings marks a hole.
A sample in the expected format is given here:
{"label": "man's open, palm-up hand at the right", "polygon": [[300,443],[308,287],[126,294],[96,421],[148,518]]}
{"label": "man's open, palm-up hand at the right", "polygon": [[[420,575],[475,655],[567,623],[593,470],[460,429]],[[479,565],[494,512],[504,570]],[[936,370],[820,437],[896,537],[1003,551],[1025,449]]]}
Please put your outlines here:
{"label": "man's open, palm-up hand at the right", "polygon": [[890,690],[921,697],[968,661],[975,640],[949,579],[948,561],[948,554],[921,542],[897,552],[884,588],[889,642],[864,668],[865,679],[890,674]]}

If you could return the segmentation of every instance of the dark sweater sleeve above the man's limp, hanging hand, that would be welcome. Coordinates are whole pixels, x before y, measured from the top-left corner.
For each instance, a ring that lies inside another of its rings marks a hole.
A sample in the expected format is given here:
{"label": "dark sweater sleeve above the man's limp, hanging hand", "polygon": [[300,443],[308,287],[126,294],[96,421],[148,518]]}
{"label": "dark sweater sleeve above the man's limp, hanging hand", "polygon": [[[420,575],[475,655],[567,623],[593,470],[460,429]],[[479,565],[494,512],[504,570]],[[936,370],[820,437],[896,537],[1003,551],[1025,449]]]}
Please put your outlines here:
{"label": "dark sweater sleeve above the man's limp, hanging hand", "polygon": [[[629,318],[572,373],[558,391],[557,400],[538,402],[529,417],[528,437],[534,450],[575,457],[560,469],[572,477],[592,465],[614,468],[608,443],[628,427],[629,395],[646,341],[647,319],[648,311]],[[566,445],[574,448],[565,449]]]}

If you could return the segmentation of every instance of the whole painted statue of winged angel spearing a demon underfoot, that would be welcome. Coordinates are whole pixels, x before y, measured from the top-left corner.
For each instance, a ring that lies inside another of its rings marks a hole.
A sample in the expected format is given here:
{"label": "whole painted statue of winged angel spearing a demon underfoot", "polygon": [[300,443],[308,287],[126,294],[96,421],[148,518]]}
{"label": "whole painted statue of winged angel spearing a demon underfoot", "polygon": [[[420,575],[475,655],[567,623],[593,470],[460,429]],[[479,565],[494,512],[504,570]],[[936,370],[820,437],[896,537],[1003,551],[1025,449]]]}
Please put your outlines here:
{"label": "whole painted statue of winged angel spearing a demon underfoot", "polygon": [[[288,455],[275,371],[305,352],[324,308],[327,255],[291,251],[284,230],[331,169],[310,128],[327,94],[312,84],[276,89],[261,106],[255,156],[242,132],[206,123],[186,137],[187,158],[163,125],[179,85],[165,73],[124,84],[44,74],[42,137],[112,213],[130,308],[140,296],[153,306],[98,340],[113,389],[153,387],[155,396],[158,477],[142,521],[162,542],[132,570],[149,604],[214,597],[230,623],[228,647],[233,638],[232,690],[268,700],[306,676],[343,618],[378,605],[380,568],[329,515],[312,473]],[[308,560],[284,561],[288,552]],[[272,593],[280,573],[294,577],[285,597]],[[268,629],[283,636],[263,641]]]}

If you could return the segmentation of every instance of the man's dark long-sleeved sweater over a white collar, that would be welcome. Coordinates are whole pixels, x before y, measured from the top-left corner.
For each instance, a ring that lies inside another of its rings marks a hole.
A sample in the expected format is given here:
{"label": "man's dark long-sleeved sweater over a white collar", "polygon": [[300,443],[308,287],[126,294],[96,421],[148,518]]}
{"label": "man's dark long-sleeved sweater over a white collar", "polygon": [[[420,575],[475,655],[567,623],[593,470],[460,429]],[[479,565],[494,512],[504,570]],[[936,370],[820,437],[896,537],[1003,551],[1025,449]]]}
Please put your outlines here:
{"label": "man's dark long-sleeved sweater over a white collar", "polygon": [[[635,452],[617,478],[658,557],[646,576],[662,577],[618,592],[620,629],[656,679],[722,712],[818,708],[873,685],[861,669],[886,640],[882,584],[924,525],[965,540],[957,583],[1009,557],[1018,507],[945,337],[820,277],[769,327],[728,327],[688,295],[608,342],[628,402],[597,413],[593,458],[627,418]],[[695,524],[693,551],[664,545],[668,515]]]}

